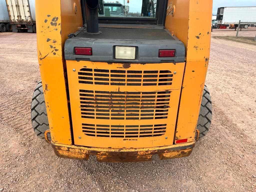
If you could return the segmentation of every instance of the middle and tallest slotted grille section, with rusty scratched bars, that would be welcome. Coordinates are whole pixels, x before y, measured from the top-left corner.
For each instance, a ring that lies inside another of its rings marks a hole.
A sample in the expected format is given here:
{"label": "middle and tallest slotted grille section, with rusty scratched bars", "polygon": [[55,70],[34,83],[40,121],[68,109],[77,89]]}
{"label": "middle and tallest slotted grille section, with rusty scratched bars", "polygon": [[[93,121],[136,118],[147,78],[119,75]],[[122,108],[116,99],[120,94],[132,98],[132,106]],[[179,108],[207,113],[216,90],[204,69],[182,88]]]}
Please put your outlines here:
{"label": "middle and tallest slotted grille section, with rusty scratched bars", "polygon": [[79,90],[81,117],[110,120],[167,119],[170,93]]}

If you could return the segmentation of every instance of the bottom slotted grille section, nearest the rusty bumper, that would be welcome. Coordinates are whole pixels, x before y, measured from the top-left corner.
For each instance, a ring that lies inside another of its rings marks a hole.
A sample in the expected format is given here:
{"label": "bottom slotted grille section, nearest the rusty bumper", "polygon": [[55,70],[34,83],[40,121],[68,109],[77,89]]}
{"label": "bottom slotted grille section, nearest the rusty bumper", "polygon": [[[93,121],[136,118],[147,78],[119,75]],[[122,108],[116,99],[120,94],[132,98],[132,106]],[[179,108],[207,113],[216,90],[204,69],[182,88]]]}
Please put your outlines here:
{"label": "bottom slotted grille section, nearest the rusty bumper", "polygon": [[156,137],[166,132],[166,124],[158,125],[95,125],[82,123],[83,133],[97,137]]}

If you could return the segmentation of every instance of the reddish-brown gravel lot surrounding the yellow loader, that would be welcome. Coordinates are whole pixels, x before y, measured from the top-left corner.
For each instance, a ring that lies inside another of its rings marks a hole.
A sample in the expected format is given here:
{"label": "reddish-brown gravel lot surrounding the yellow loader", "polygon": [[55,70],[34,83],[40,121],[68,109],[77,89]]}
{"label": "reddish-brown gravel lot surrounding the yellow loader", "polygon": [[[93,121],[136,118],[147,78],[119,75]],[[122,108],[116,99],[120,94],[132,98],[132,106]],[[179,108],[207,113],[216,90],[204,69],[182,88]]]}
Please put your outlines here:
{"label": "reddish-brown gravel lot surrounding the yellow loader", "polygon": [[191,156],[85,162],[56,157],[32,129],[30,102],[40,81],[36,35],[0,33],[0,191],[255,191],[255,60],[256,46],[212,38],[206,82],[212,126]]}

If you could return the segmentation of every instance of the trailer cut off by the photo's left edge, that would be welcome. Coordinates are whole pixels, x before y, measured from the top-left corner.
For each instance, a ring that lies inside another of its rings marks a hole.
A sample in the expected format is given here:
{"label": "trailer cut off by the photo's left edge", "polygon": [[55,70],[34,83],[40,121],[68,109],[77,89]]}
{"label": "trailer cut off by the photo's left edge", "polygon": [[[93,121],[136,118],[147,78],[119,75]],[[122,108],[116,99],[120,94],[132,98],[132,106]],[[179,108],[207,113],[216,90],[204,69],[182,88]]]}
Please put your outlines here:
{"label": "trailer cut off by the photo's left edge", "polygon": [[5,0],[0,0],[0,32],[12,31]]}

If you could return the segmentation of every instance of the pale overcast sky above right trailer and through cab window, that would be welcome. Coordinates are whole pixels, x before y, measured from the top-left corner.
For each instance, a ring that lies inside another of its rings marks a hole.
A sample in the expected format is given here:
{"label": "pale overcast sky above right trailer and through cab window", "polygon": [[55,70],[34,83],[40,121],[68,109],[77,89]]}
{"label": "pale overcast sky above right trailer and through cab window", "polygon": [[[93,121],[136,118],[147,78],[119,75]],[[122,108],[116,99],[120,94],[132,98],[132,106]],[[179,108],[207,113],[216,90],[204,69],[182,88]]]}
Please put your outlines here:
{"label": "pale overcast sky above right trailer and through cab window", "polygon": [[[208,1],[208,0],[204,0]],[[106,2],[106,1],[105,1]],[[119,0],[124,3],[124,0]],[[125,2],[127,2],[125,0]],[[130,12],[141,12],[142,0],[130,0]],[[256,6],[256,0],[213,0],[213,14],[217,14],[218,7]]]}

